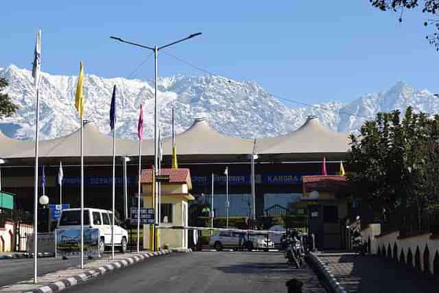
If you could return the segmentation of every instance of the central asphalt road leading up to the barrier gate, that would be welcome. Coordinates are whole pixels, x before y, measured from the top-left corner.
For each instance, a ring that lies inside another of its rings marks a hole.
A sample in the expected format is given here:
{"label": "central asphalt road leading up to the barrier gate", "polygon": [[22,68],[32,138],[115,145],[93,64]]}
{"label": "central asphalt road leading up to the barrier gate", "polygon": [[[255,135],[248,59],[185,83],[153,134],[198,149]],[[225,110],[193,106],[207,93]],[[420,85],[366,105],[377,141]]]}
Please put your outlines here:
{"label": "central asphalt road leading up to the barrier gate", "polygon": [[73,292],[287,292],[299,279],[302,292],[326,292],[312,270],[288,266],[281,253],[194,252],[154,257],[75,285]]}

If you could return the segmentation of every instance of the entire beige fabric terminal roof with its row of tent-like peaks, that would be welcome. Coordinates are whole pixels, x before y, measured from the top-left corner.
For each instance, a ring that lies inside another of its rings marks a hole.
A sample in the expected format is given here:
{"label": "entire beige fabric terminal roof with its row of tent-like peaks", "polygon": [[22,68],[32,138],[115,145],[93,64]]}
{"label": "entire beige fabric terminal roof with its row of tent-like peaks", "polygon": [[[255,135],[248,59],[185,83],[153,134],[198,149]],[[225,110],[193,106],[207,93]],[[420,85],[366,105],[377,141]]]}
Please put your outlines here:
{"label": "entire beige fabric terminal roof with its row of tent-like peaks", "polygon": [[[47,158],[79,157],[80,129],[56,139],[39,143],[39,156]],[[204,119],[195,119],[192,126],[176,135],[178,155],[241,155],[252,154],[254,140],[229,137],[213,130]],[[256,139],[257,154],[329,154],[346,153],[350,149],[348,134],[335,132],[322,126],[318,119],[310,118],[298,130],[279,137]],[[163,153],[172,152],[172,139],[163,139]],[[117,156],[137,156],[139,141],[116,139]],[[154,155],[154,139],[142,141],[142,155]],[[112,156],[112,137],[99,131],[92,123],[84,125],[84,156]],[[34,141],[19,141],[0,132],[0,158],[18,159],[34,157]]]}

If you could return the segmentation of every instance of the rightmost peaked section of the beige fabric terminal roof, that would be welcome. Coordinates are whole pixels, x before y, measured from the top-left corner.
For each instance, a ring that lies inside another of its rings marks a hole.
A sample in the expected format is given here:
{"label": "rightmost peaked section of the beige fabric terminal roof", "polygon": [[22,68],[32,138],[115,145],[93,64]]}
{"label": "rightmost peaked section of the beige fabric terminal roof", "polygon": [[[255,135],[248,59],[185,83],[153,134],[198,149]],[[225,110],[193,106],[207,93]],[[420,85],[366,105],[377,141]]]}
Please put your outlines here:
{"label": "rightmost peaked section of the beige fabric terminal roof", "polygon": [[278,137],[257,139],[257,154],[335,153],[348,152],[348,134],[323,126],[316,117],[309,117],[298,130]]}

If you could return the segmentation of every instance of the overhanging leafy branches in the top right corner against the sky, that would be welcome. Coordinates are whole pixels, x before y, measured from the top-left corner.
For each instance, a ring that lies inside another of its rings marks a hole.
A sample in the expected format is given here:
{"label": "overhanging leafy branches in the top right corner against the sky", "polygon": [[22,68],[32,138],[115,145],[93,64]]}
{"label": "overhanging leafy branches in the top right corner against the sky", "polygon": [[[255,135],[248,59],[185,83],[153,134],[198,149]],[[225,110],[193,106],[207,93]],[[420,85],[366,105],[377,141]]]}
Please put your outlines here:
{"label": "overhanging leafy branches in the top right corner against the sky", "polygon": [[[372,6],[383,11],[394,11],[399,13],[399,22],[403,21],[403,13],[406,10],[419,9],[418,0],[369,0]],[[427,40],[431,45],[434,45],[436,51],[439,51],[439,0],[423,0],[422,11],[427,14],[427,21],[424,25],[433,25],[436,27],[435,32],[427,35]]]}

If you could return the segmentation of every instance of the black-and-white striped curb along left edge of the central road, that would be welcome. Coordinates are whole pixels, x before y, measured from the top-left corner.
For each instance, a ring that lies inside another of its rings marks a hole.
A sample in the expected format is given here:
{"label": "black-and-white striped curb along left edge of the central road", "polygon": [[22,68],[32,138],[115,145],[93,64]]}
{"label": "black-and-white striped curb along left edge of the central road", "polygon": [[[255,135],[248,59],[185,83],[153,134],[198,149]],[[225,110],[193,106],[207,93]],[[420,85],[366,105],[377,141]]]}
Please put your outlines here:
{"label": "black-and-white striped curb along left edge of the central road", "polygon": [[60,292],[62,290],[66,290],[67,288],[78,285],[80,283],[84,283],[90,279],[93,279],[100,274],[106,274],[112,270],[117,270],[119,268],[125,268],[126,266],[130,266],[133,263],[141,262],[150,257],[157,257],[160,255],[168,255],[169,253],[191,253],[191,249],[172,249],[172,250],[160,250],[154,253],[141,253],[140,255],[134,255],[133,257],[127,257],[126,259],[121,259],[119,261],[115,261],[112,263],[108,263],[104,266],[100,266],[99,268],[94,268],[92,270],[88,270],[83,272],[82,274],[74,274],[67,279],[62,279],[56,281],[54,283],[50,283],[48,285],[41,286],[34,290],[23,291],[25,293],[51,293],[51,292]]}

